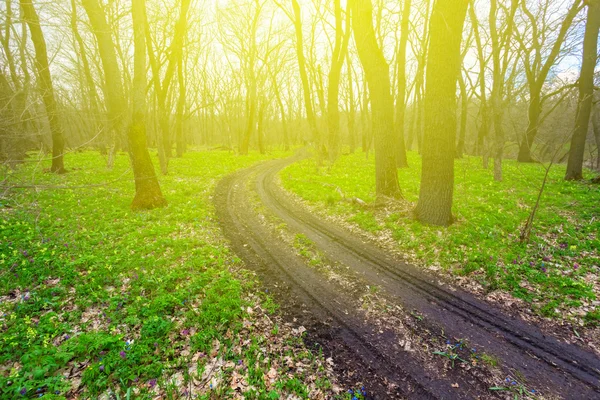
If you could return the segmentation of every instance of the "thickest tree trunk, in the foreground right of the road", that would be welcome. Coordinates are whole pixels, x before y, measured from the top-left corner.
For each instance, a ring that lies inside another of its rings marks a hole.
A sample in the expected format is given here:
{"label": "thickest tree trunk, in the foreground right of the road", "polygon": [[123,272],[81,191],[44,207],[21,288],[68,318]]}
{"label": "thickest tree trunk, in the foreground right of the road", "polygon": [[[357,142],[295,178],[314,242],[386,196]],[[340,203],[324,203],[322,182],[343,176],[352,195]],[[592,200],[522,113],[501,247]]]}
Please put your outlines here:
{"label": "thickest tree trunk, in the foreground right of the road", "polygon": [[450,225],[456,148],[456,84],[461,72],[467,1],[438,0],[433,7],[427,53],[423,165],[416,218]]}

